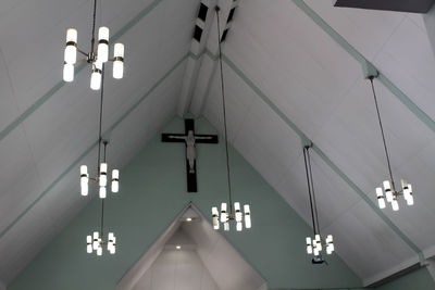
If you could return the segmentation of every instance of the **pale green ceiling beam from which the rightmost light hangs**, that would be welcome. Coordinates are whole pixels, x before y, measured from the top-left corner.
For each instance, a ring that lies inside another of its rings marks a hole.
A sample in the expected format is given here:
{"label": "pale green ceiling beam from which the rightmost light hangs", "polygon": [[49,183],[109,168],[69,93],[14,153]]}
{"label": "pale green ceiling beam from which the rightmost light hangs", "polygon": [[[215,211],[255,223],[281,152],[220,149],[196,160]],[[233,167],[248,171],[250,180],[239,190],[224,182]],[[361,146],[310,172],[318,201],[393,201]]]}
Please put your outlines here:
{"label": "pale green ceiling beam from which the rightmost light hangs", "polygon": [[[333,27],[331,27],[318,13],[314,12],[303,0],[293,0],[293,2],[315,24],[319,25],[337,45],[347,51],[362,67],[370,63],[364,55],[355,49],[347,40],[340,36]],[[372,64],[373,65],[373,64]],[[375,67],[373,65],[373,67]],[[406,106],[414,114],[424,125],[435,133],[435,121],[432,119],[423,110],[421,110],[405,92],[402,92],[391,80],[389,80],[377,67],[377,79]]]}

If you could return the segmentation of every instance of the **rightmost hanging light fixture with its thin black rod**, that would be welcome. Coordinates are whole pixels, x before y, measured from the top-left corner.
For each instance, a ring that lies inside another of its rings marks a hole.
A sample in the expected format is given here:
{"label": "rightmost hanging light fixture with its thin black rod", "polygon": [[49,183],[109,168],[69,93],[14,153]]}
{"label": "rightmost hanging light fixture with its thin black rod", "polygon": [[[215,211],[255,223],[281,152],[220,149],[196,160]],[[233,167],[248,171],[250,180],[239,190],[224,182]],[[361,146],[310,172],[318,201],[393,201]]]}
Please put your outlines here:
{"label": "rightmost hanging light fixture with its thin black rod", "polygon": [[385,156],[386,156],[386,160],[387,160],[388,173],[389,173],[389,180],[388,179],[384,180],[383,187],[377,187],[376,188],[377,204],[378,204],[380,209],[385,209],[386,207],[385,200],[386,200],[387,202],[391,203],[391,209],[393,209],[393,211],[396,212],[396,211],[399,210],[398,198],[400,196],[403,196],[403,198],[405,198],[405,200],[406,200],[408,205],[414,204],[414,198],[412,196],[412,186],[411,186],[411,184],[408,184],[408,181],[406,179],[401,179],[400,180],[401,190],[398,190],[396,188],[396,184],[395,184],[395,180],[393,178],[391,165],[390,165],[390,162],[389,162],[388,149],[387,149],[387,144],[386,144],[386,141],[385,141],[384,127],[383,127],[382,121],[381,121],[380,108],[378,108],[378,104],[377,104],[377,97],[376,97],[376,92],[374,90],[374,85],[373,85],[374,76],[369,76],[369,79],[370,79],[370,84],[372,86],[374,104],[375,104],[375,108],[376,108],[377,121],[380,123],[382,141],[384,143]]}

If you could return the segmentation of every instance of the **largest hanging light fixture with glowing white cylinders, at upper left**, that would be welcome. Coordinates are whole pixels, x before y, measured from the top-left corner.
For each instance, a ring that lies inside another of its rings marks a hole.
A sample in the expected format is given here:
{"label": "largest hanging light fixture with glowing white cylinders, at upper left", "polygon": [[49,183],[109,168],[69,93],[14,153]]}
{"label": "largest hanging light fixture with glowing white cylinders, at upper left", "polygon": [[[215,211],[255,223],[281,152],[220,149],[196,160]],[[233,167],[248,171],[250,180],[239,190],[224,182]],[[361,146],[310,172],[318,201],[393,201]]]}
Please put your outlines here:
{"label": "largest hanging light fixture with glowing white cylinders, at upper left", "polygon": [[[92,35],[90,40],[90,52],[86,53],[77,47],[77,30],[74,28],[66,29],[66,46],[64,52],[63,80],[74,80],[74,65],[82,62],[88,62],[91,66],[90,88],[99,90],[101,87],[101,75],[103,63],[113,62],[113,77],[122,78],[124,75],[124,45],[115,43],[113,49],[113,58],[109,59],[109,28],[101,26],[98,29],[98,46],[95,49],[95,28],[96,28],[97,0],[94,1],[94,20]],[[77,61],[77,51],[85,55],[84,59]]]}

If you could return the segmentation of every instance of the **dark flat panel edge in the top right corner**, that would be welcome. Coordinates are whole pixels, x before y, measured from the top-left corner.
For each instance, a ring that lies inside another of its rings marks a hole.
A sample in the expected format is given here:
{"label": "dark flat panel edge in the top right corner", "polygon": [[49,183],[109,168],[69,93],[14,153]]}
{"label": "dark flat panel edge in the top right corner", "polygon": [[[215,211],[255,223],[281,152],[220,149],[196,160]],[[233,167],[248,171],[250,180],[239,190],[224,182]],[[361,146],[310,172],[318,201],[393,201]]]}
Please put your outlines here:
{"label": "dark flat panel edge in the top right corner", "polygon": [[427,13],[434,0],[336,0],[334,7]]}

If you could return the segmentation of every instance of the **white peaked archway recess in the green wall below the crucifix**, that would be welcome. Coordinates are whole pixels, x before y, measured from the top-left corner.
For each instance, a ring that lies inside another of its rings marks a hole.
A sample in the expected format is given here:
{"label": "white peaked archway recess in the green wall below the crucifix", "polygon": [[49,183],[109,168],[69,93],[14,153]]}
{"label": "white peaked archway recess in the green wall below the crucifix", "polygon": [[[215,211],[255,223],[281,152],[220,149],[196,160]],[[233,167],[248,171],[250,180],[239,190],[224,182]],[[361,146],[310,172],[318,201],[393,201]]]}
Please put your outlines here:
{"label": "white peaked archway recess in the green wall below the crucifix", "polygon": [[[189,220],[189,222],[188,222]],[[189,204],[124,275],[117,290],[260,290],[263,278]]]}

